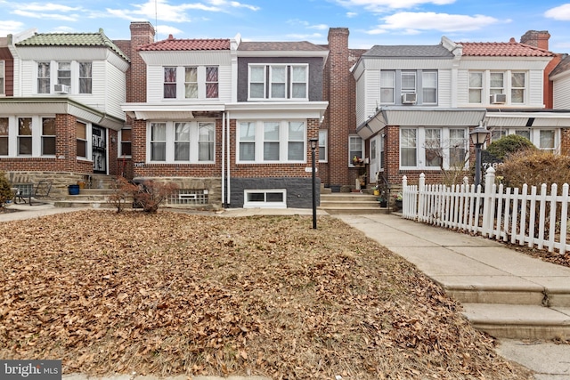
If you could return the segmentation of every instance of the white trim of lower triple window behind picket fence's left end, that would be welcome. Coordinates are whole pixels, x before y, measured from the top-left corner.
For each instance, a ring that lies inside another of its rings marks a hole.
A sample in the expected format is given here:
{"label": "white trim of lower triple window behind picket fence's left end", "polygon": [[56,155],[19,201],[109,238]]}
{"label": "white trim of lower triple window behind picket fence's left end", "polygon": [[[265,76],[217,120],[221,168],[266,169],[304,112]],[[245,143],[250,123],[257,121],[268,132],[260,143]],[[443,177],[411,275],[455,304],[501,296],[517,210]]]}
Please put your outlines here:
{"label": "white trim of lower triple window behind picket fence's left end", "polygon": [[[398,155],[399,155],[399,165],[400,170],[426,170],[426,171],[439,171],[441,170],[440,166],[426,166],[425,157],[426,157],[426,129],[440,129],[441,130],[441,141],[443,145],[443,166],[444,169],[449,169],[449,148],[446,146],[446,141],[450,141],[450,130],[452,129],[465,129],[465,149],[468,151],[468,130],[467,128],[462,128],[460,126],[416,126],[416,127],[406,127],[405,129],[415,129],[416,130],[416,163],[417,166],[403,166],[402,165],[402,130],[400,130],[400,146],[398,147]],[[465,167],[468,167],[468,163],[466,163]]]}

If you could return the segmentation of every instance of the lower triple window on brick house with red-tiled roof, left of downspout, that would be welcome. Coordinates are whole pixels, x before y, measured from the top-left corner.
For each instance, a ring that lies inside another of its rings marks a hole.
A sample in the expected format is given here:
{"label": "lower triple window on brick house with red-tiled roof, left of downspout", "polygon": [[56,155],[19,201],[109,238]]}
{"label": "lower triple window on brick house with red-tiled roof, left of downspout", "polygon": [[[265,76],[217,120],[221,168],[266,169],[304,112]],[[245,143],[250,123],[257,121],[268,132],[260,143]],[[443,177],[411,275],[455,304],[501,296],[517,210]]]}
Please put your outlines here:
{"label": "lower triple window on brick house with red-tiled roof, left of downspout", "polygon": [[210,122],[152,122],[148,125],[147,157],[167,164],[212,163],[216,125]]}

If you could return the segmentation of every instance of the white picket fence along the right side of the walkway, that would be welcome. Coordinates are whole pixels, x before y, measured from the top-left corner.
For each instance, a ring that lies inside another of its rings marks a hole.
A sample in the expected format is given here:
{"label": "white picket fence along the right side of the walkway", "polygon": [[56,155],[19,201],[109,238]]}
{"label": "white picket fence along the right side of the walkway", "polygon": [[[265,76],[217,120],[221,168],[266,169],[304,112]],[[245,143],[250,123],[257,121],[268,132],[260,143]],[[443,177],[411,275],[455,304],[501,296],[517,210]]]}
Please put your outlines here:
{"label": "white picket fence along the right side of the walkway", "polygon": [[[484,190],[484,191],[483,191]],[[432,225],[480,234],[520,246],[548,249],[564,255],[570,251],[568,231],[568,184],[558,194],[557,184],[550,193],[543,184],[522,189],[495,184],[495,170],[487,169],[485,189],[469,185],[467,179],[456,186],[426,185],[420,174],[418,185],[408,185],[403,177],[402,214],[404,218]],[[482,192],[483,191],[483,192]]]}

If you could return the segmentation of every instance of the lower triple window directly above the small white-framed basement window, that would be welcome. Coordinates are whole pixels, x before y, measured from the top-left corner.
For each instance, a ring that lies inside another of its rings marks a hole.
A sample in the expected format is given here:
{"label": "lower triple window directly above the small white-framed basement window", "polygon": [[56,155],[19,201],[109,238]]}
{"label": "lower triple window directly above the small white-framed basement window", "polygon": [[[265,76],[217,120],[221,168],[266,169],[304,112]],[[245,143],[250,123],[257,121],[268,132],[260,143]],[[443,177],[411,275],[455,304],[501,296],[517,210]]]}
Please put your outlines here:
{"label": "lower triple window directly above the small white-framed basement window", "polygon": [[238,127],[240,162],[305,161],[305,121],[242,121]]}

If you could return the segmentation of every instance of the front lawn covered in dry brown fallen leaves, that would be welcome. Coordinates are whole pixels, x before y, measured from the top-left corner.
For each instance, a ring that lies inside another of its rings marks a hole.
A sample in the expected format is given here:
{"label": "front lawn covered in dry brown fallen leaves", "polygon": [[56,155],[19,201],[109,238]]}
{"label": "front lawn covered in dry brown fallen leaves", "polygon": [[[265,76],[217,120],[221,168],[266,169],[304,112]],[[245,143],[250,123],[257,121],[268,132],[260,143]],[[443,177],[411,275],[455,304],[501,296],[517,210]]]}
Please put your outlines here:
{"label": "front lawn covered in dry brown fallen leaves", "polygon": [[0,223],[0,358],[64,373],[528,378],[410,263],[332,217]]}

